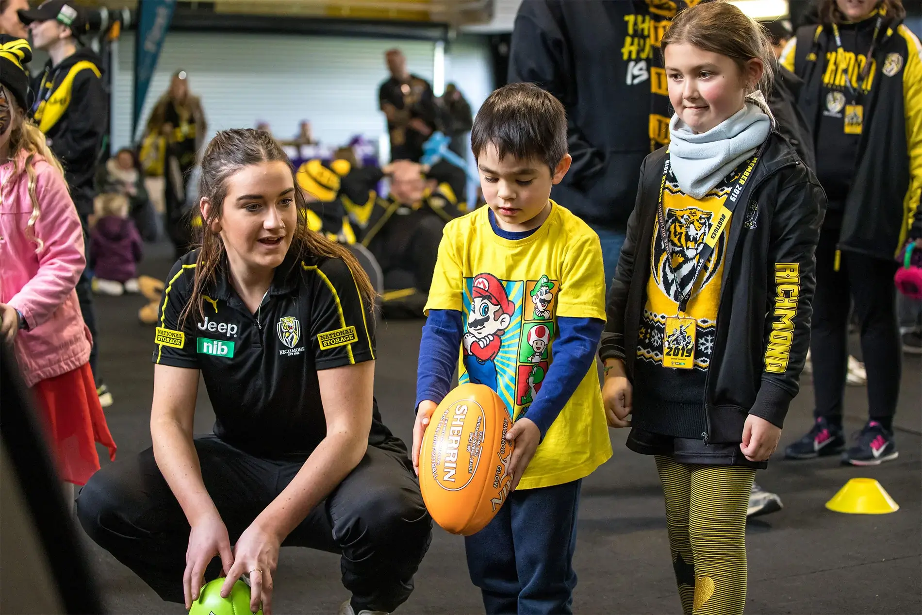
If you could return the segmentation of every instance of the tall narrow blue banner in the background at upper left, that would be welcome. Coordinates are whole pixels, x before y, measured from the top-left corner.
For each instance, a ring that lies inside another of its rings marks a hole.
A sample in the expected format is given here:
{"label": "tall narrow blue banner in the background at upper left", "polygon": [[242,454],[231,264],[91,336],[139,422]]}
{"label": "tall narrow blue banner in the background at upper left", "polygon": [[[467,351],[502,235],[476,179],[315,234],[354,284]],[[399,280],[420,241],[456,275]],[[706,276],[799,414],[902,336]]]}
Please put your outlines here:
{"label": "tall narrow blue banner in the background at upper left", "polygon": [[136,136],[141,121],[144,101],[148,98],[150,78],[154,76],[163,39],[170,30],[176,0],[140,0],[137,3],[137,31],[135,35],[135,115],[131,124],[132,137]]}

